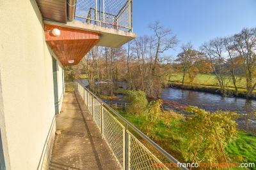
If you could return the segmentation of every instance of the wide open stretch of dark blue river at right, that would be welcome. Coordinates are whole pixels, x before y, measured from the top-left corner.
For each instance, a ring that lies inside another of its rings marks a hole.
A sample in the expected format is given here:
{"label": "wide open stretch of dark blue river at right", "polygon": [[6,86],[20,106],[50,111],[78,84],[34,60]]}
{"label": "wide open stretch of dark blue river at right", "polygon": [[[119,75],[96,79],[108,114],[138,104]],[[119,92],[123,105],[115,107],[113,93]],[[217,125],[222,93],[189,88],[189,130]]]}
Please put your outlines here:
{"label": "wide open stretch of dark blue river at right", "polygon": [[218,94],[207,92],[198,92],[183,89],[162,89],[161,99],[174,101],[180,104],[197,106],[207,111],[237,111],[237,113],[246,113],[256,110],[256,100],[243,99],[238,97],[223,97]]}

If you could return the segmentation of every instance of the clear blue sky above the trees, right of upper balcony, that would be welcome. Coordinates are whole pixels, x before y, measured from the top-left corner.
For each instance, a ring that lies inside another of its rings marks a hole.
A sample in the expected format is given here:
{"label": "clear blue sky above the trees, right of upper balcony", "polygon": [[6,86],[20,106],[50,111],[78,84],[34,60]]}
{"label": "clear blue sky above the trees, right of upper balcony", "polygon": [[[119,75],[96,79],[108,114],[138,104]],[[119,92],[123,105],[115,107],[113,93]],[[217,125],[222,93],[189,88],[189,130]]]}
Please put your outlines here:
{"label": "clear blue sky above the trees, right of upper balcony", "polygon": [[[256,0],[134,0],[133,32],[153,34],[148,24],[159,20],[182,43],[195,49],[212,38],[230,36],[244,27],[256,26]],[[176,51],[168,51],[177,55]]]}

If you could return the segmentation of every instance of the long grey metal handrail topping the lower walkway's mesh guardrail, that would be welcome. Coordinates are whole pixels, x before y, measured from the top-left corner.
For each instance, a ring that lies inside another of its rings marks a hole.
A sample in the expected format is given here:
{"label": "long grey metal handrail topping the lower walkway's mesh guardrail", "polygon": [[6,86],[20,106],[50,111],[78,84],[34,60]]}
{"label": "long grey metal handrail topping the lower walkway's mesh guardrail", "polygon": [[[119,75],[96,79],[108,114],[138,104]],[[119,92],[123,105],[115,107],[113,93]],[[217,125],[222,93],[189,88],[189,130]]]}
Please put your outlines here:
{"label": "long grey metal handrail topping the lower walkway's mesh guardrail", "polygon": [[[80,82],[77,81],[77,83],[79,83],[81,85]],[[143,132],[141,132],[139,129],[137,129],[134,125],[132,125],[128,120],[126,120],[124,117],[122,117],[119,113],[117,113],[115,110],[113,110],[113,108],[111,108],[110,106],[108,106],[108,104],[104,103],[104,101],[102,101],[99,97],[97,97],[95,94],[93,94],[93,92],[91,92],[89,89],[87,89],[86,87],[84,87],[83,85],[81,85],[81,87],[83,87],[87,92],[89,92],[93,97],[95,97],[96,99],[98,99],[102,104],[104,104],[109,110],[111,110],[117,117],[119,117],[122,121],[125,122],[125,126],[128,125],[129,127],[131,127],[132,130],[134,130],[138,135],[140,135],[140,137],[142,139],[144,139],[145,141],[147,141],[148,143],[150,143],[150,145],[152,145],[158,152],[162,153],[164,155],[164,157],[166,157],[166,159],[168,159],[170,162],[172,163],[180,163],[178,160],[176,160],[174,157],[172,157],[172,155],[170,155],[169,153],[167,153],[165,150],[163,150],[163,148],[161,148],[160,146],[158,146],[156,143],[154,143],[154,141],[152,141],[150,138],[148,138],[145,134],[143,134]],[[182,164],[180,164],[180,167],[178,167],[179,169],[186,169],[188,170],[188,168],[182,166]]]}

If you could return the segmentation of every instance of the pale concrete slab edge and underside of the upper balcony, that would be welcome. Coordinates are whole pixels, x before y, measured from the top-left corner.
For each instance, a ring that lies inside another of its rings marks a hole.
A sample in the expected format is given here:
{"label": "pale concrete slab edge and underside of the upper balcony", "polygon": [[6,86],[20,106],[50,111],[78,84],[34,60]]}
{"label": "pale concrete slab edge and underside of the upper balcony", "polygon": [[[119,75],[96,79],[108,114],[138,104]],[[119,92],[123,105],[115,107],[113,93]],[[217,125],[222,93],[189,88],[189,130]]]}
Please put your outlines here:
{"label": "pale concrete slab edge and underside of the upper balcony", "polygon": [[120,47],[136,38],[136,34],[132,32],[81,22],[79,20],[73,20],[72,22],[67,22],[67,24],[44,20],[44,24],[100,33],[100,40],[96,44],[99,46]]}

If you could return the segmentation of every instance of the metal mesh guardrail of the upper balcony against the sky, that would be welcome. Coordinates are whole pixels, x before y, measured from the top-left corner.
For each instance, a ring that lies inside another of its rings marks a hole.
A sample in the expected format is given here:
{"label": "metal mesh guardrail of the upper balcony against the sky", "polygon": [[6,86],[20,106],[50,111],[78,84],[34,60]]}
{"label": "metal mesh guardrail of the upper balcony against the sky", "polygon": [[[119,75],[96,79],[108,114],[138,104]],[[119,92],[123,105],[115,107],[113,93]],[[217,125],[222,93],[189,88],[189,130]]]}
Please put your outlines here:
{"label": "metal mesh guardrail of the upper balcony against the sky", "polygon": [[84,22],[132,31],[132,0],[77,0],[75,16]]}

